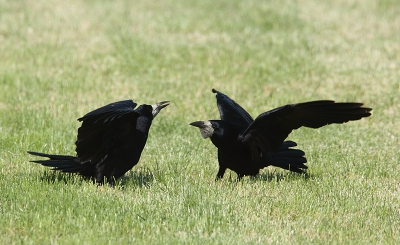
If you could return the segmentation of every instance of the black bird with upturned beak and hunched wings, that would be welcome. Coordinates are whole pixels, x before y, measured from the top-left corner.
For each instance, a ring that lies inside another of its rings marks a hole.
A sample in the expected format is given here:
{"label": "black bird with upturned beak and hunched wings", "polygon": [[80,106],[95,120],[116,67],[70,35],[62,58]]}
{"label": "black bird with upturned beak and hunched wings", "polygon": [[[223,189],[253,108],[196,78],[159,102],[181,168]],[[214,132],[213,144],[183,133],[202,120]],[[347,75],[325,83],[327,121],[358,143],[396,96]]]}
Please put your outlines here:
{"label": "black bird with upturned beak and hunched wings", "polygon": [[77,156],[28,151],[50,158],[32,162],[53,167],[53,170],[78,173],[98,184],[105,180],[113,184],[138,163],[151,123],[169,101],[140,105],[135,110],[136,105],[132,100],[124,100],[87,113],[78,119],[82,126],[75,142]]}

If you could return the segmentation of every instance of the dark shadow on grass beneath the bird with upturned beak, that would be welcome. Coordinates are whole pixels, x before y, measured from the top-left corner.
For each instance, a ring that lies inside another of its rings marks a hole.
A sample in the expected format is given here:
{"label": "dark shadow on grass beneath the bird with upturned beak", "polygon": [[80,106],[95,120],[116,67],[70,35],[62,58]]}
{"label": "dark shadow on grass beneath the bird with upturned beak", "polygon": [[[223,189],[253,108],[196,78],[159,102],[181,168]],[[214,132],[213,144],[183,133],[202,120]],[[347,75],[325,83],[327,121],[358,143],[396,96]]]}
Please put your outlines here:
{"label": "dark shadow on grass beneath the bird with upturned beak", "polygon": [[[82,184],[84,182],[91,182],[95,184],[91,178],[83,177],[78,174],[62,173],[59,171],[44,171],[40,176],[40,180],[49,184],[63,183],[63,184]],[[154,181],[154,174],[149,169],[140,169],[130,171],[123,177],[119,178],[110,187],[125,188],[126,186],[137,186],[139,188],[149,188],[151,182]]]}

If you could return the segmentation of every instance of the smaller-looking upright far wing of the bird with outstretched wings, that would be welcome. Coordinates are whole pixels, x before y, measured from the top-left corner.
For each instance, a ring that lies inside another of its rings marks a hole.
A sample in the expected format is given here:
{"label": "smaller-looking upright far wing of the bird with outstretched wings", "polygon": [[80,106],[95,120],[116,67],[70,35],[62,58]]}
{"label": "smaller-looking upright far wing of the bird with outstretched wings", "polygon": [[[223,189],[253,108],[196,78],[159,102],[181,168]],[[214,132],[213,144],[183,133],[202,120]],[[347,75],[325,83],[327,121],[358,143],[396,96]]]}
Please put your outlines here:
{"label": "smaller-looking upright far wing of the bird with outstretched wings", "polygon": [[212,89],[212,92],[217,94],[217,106],[221,120],[236,122],[246,127],[253,122],[249,113],[234,100],[215,89]]}

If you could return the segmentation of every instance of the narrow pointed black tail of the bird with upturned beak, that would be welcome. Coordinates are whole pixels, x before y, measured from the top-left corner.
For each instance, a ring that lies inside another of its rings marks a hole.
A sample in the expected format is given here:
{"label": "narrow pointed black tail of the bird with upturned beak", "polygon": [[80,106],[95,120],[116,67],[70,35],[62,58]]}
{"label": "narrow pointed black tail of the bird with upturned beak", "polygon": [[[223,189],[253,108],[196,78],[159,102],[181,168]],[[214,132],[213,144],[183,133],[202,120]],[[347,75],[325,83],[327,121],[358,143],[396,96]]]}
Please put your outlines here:
{"label": "narrow pointed black tail of the bird with upturned beak", "polygon": [[89,167],[88,164],[81,164],[77,157],[65,155],[49,155],[45,153],[28,151],[29,154],[39,157],[48,157],[46,160],[31,161],[39,163],[46,167],[53,167],[52,170],[59,170],[65,173],[80,173],[82,174]]}

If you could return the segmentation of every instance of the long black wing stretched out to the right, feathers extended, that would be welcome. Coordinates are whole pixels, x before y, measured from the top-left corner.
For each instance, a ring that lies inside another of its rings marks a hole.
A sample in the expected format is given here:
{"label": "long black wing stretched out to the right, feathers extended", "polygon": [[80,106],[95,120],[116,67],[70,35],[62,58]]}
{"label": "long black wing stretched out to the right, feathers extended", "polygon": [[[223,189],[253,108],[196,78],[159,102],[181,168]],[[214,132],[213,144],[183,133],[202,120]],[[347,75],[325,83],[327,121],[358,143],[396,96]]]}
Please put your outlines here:
{"label": "long black wing stretched out to the right, feathers extended", "polygon": [[277,152],[283,141],[302,126],[319,128],[332,123],[345,123],[371,115],[362,103],[335,103],[330,100],[285,105],[259,115],[243,132],[242,141],[252,151]]}

